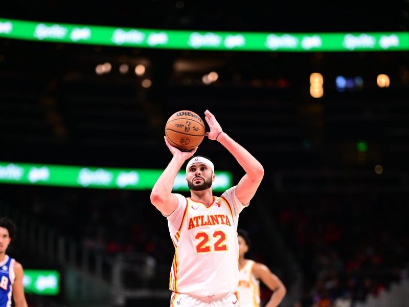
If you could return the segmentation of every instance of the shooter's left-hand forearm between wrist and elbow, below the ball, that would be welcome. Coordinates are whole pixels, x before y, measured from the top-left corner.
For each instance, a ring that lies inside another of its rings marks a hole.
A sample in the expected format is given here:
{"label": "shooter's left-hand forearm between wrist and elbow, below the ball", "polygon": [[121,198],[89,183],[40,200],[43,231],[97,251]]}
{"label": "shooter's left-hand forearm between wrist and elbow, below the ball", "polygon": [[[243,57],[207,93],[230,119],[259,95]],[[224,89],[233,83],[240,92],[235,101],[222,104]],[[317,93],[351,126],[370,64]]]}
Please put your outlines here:
{"label": "shooter's left-hand forearm between wrist and elbow, below the ball", "polygon": [[173,184],[175,182],[176,175],[183,165],[185,160],[178,155],[174,155],[168,166],[165,168],[161,176],[157,179],[155,185],[152,188],[152,196],[163,197],[172,193]]}

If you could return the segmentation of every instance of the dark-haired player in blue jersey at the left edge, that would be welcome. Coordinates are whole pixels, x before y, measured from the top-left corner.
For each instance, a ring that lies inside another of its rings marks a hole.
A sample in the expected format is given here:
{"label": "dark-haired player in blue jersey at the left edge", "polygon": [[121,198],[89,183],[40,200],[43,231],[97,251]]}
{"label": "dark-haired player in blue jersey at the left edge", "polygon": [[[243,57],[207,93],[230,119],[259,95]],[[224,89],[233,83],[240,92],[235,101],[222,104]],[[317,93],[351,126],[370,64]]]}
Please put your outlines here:
{"label": "dark-haired player in blue jersey at the left edge", "polygon": [[16,226],[9,218],[0,218],[0,307],[11,306],[11,295],[14,299],[13,306],[27,307],[22,286],[22,267],[6,254],[15,231]]}

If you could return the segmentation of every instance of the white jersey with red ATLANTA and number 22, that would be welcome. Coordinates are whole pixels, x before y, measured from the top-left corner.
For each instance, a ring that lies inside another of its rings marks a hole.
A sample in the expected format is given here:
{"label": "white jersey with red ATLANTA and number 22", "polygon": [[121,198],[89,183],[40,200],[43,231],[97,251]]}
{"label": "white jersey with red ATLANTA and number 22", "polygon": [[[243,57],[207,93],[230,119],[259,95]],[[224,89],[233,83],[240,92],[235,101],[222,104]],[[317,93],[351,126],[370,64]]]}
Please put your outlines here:
{"label": "white jersey with red ATLANTA and number 22", "polygon": [[[168,216],[175,256],[169,289],[199,297],[220,297],[236,288],[239,281],[237,223],[245,205],[236,187],[213,203],[194,202],[180,194],[177,209]],[[246,204],[247,206],[248,204]]]}

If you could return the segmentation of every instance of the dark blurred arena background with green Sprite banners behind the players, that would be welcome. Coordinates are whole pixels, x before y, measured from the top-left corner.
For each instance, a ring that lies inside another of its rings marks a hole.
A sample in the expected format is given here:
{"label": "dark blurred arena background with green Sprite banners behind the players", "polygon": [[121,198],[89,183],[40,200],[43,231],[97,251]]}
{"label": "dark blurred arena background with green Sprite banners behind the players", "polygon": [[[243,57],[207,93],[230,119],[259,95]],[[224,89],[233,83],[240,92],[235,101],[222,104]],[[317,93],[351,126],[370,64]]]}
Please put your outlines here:
{"label": "dark blurred arena background with green Sprite banners behind the players", "polygon": [[[29,306],[169,306],[174,248],[149,194],[167,119],[206,109],[265,169],[239,228],[285,284],[281,306],[409,306],[408,10],[2,4],[0,215]],[[198,153],[222,187],[243,176],[219,143]]]}

